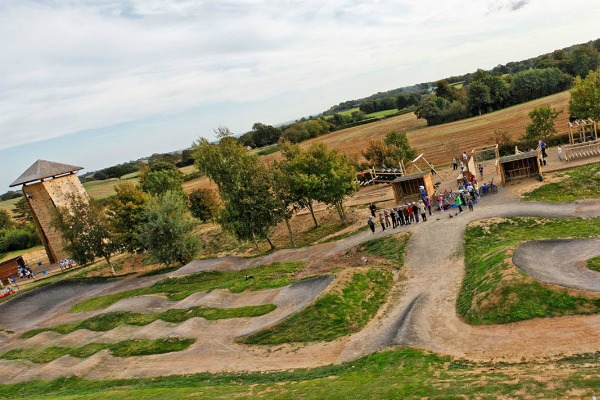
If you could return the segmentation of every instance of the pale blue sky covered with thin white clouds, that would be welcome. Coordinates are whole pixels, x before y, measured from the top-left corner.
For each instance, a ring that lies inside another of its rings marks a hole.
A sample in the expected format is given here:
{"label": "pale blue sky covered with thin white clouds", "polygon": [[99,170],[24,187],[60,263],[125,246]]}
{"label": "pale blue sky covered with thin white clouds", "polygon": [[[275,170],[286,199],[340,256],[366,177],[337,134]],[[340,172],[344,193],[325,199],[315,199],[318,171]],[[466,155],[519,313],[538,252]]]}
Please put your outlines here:
{"label": "pale blue sky covered with thin white clouds", "polygon": [[596,0],[0,0],[0,192],[600,37]]}

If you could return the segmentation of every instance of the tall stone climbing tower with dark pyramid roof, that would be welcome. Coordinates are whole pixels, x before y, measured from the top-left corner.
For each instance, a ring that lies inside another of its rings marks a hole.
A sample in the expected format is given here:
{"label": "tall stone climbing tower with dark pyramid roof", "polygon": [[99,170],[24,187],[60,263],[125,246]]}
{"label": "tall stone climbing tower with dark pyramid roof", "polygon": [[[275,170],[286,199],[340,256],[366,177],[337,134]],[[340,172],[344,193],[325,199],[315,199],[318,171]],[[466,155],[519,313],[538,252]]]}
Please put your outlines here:
{"label": "tall stone climbing tower with dark pyramid roof", "polygon": [[83,169],[45,160],[37,160],[10,186],[23,185],[23,194],[51,263],[69,258],[63,249],[60,231],[52,226],[58,207],[69,205],[69,195],[88,197],[76,172]]}

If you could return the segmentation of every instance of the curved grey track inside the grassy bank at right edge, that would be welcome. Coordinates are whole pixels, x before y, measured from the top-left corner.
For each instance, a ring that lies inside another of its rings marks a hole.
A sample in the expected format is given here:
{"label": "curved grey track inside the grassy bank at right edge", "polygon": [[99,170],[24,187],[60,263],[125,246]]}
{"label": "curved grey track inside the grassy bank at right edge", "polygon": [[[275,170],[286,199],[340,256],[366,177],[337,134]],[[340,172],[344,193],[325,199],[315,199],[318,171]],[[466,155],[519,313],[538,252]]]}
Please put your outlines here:
{"label": "curved grey track inside the grassy bank at right edge", "polygon": [[541,282],[600,292],[600,272],[578,265],[596,256],[600,239],[534,240],[517,247],[513,263]]}

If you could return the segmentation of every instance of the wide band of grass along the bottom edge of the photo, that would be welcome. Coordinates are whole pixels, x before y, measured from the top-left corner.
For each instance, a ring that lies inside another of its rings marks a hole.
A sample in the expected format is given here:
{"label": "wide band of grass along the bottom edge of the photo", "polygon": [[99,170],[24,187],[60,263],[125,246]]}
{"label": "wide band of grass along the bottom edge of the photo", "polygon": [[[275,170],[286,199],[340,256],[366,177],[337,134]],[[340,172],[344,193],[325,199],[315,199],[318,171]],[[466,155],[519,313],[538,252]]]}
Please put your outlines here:
{"label": "wide band of grass along the bottom edge of the photo", "polygon": [[[557,371],[563,371],[557,375]],[[474,363],[415,349],[356,361],[270,373],[175,375],[144,379],[64,377],[0,385],[6,399],[464,399],[591,398],[600,357],[543,363]]]}

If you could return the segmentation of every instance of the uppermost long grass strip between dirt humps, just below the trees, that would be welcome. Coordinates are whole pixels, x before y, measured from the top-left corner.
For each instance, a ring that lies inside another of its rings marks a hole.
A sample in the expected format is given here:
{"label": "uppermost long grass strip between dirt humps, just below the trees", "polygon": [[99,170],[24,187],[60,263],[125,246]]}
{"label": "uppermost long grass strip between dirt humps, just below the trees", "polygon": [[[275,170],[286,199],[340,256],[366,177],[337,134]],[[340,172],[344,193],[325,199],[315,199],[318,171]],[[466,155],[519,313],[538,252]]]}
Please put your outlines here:
{"label": "uppermost long grass strip between dirt humps, just below the trees", "polygon": [[[71,312],[101,310],[119,300],[146,294],[162,294],[169,300],[183,300],[197,292],[208,292],[215,289],[228,289],[233,293],[244,290],[260,290],[289,285],[293,276],[302,269],[301,262],[277,262],[243,271],[205,271],[181,277],[165,278],[154,285],[126,290],[105,296],[94,297],[75,304]],[[246,275],[253,279],[246,280]]]}

